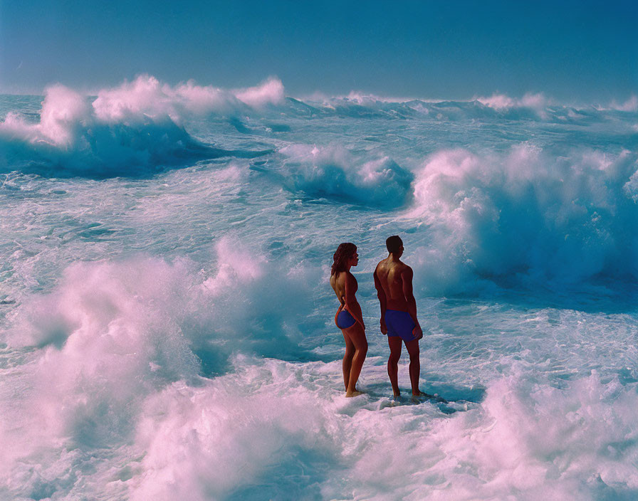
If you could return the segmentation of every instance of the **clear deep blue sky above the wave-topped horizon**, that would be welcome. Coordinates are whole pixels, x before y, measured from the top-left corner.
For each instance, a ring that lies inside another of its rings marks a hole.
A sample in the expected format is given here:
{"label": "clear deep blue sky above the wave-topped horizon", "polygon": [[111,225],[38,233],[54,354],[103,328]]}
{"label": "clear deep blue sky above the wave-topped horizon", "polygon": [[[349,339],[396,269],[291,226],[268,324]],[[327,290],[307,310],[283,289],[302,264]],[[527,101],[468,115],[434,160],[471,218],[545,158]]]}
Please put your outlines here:
{"label": "clear deep blue sky above the wave-topped horizon", "polygon": [[624,100],[637,26],[636,1],[0,0],[0,90],[275,75],[293,96]]}

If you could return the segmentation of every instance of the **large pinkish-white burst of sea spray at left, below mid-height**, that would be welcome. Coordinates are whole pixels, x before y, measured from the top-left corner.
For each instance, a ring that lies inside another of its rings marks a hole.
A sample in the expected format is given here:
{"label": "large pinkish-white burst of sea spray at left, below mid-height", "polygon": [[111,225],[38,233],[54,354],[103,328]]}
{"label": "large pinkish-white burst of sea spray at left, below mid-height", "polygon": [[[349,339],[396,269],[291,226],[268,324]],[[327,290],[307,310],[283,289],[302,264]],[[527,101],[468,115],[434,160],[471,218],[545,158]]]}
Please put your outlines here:
{"label": "large pinkish-white burst of sea spray at left, below mid-height", "polygon": [[187,295],[186,271],[161,260],[78,263],[51,295],[23,306],[10,342],[43,347],[29,406],[49,439],[118,443],[140,397],[197,374],[179,328],[187,305],[174,300]]}

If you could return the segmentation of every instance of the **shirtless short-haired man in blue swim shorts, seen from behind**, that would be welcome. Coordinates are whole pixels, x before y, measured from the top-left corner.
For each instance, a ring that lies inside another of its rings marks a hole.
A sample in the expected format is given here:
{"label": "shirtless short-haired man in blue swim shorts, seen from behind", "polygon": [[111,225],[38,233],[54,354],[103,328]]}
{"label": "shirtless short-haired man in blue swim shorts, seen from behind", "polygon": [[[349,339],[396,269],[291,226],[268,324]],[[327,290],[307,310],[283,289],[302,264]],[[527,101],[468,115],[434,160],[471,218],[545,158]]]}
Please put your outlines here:
{"label": "shirtless short-haired man in blue swim shorts, seen from behind", "polygon": [[403,242],[399,236],[389,237],[385,245],[389,255],[375,269],[375,288],[381,302],[381,332],[387,334],[390,347],[387,375],[392,384],[392,392],[394,396],[401,394],[397,373],[403,341],[410,356],[412,396],[432,397],[419,390],[419,339],[423,337],[423,331],[417,320],[417,301],[412,293],[412,268],[401,260]]}

